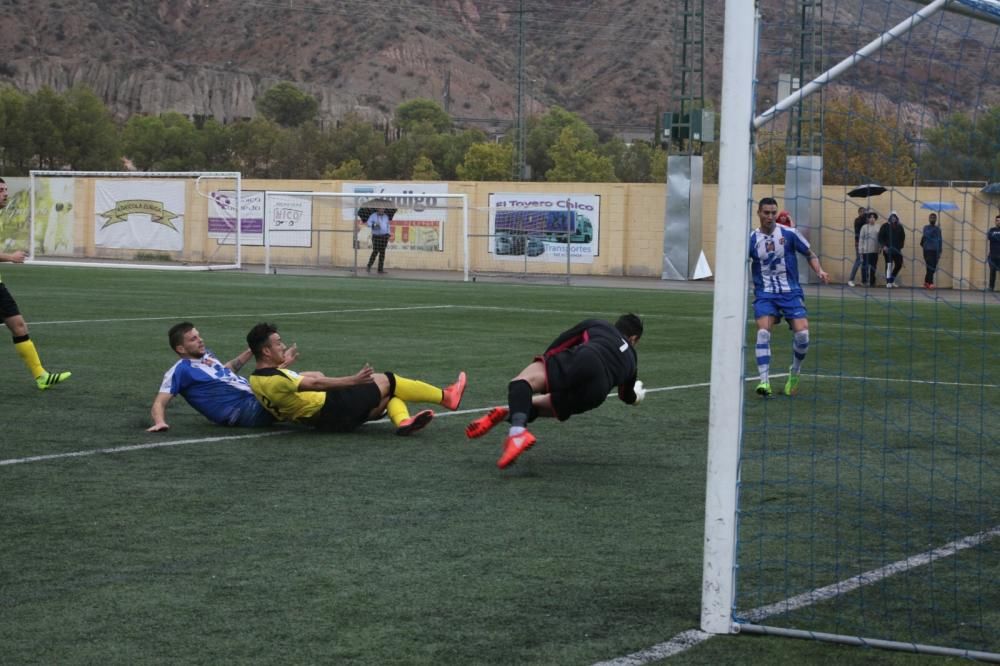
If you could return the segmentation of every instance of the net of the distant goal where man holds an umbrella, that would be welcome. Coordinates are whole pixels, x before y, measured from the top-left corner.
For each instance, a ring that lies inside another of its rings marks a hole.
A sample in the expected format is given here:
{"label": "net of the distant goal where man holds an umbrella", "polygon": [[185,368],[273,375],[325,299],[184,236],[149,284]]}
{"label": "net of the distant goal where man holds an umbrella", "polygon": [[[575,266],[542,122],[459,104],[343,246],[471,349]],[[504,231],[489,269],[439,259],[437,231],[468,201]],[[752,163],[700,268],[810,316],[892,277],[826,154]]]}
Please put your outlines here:
{"label": "net of the distant goal where man holds an umbrella", "polygon": [[370,262],[375,241],[369,224],[383,211],[389,218],[386,270],[461,271],[469,278],[466,194],[447,184],[344,183],[340,192],[294,189],[250,190],[264,219],[247,235],[245,249],[264,270],[319,269],[356,273]]}

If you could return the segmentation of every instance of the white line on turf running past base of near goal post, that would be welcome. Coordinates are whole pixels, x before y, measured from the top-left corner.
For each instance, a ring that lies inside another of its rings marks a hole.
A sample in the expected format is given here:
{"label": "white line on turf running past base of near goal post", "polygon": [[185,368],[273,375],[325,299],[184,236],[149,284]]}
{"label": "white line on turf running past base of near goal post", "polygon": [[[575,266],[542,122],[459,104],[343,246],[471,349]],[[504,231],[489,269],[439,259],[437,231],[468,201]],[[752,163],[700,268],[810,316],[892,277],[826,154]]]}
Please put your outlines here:
{"label": "white line on turf running past base of near goal post", "polygon": [[[887,564],[884,567],[879,567],[878,569],[866,571],[865,573],[833,583],[832,585],[827,585],[810,592],[789,597],[784,601],[779,601],[774,604],[754,608],[746,613],[746,618],[756,624],[761,620],[765,620],[779,613],[787,613],[789,611],[799,610],[801,608],[811,606],[817,602],[828,601],[841,594],[853,592],[854,590],[864,587],[865,585],[877,583],[880,580],[885,580],[886,578],[895,576],[898,573],[916,569],[917,567],[925,564],[930,564],[935,560],[951,557],[956,553],[968,548],[979,546],[998,536],[1000,536],[1000,525],[977,534],[956,539],[955,541],[946,543],[945,545],[934,548],[933,550],[925,551],[919,555],[911,555],[904,560]],[[594,666],[642,666],[643,664],[648,664],[680,654],[685,650],[704,643],[712,636],[713,634],[709,634],[698,629],[689,629],[687,631],[682,631],[665,643],[658,643],[657,645],[640,650],[639,652],[633,652],[632,654],[624,657],[597,662]]]}

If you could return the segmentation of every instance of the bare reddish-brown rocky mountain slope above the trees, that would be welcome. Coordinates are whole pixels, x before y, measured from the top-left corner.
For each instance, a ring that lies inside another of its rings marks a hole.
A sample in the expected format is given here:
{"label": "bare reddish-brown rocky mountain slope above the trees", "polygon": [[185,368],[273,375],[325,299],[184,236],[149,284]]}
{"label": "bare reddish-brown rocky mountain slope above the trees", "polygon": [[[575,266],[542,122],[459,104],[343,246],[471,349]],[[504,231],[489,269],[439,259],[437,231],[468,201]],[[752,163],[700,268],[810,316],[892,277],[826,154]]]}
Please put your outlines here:
{"label": "bare reddish-brown rocky mountain slope above the trees", "polygon": [[[704,4],[703,79],[706,96],[717,99],[724,0]],[[880,14],[873,4],[885,1],[827,3],[832,6],[824,15],[828,57],[860,46],[866,30],[868,38],[877,34],[875,23],[890,12]],[[4,0],[0,83],[25,91],[85,84],[119,117],[173,110],[228,122],[254,115],[256,98],[288,80],[320,100],[325,122],[352,110],[384,119],[399,102],[426,97],[441,101],[466,124],[502,129],[516,115],[522,71],[529,114],[558,104],[598,128],[651,130],[657,113],[674,106],[683,5],[683,0]],[[788,36],[798,21],[797,7],[798,0],[761,3],[762,81],[790,67],[782,61],[795,41]],[[852,25],[857,29],[840,27]],[[775,32],[784,39],[771,48],[766,37]],[[981,58],[996,36],[988,26],[980,33],[940,33],[941,48]],[[913,51],[896,57],[907,66]],[[935,73],[933,56],[914,63],[929,80],[953,76],[950,70]],[[940,94],[928,98],[926,89],[921,97],[922,91],[911,91],[913,99],[902,88],[874,92],[917,104],[915,116],[924,107],[954,104]],[[986,92],[996,99],[995,89]]]}

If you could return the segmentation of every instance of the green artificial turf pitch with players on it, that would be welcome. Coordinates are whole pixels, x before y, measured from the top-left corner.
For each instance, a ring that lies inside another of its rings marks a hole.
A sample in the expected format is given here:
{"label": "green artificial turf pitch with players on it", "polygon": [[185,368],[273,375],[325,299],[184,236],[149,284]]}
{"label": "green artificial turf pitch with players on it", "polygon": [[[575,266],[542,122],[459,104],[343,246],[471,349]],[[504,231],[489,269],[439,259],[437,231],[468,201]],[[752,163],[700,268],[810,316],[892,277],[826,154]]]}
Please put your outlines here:
{"label": "green artificial turf pitch with players on it", "polygon": [[[3,268],[43,361],[73,378],[39,392],[12,349],[0,354],[0,663],[590,664],[697,628],[709,294]],[[870,370],[844,351],[870,338],[870,304],[810,305],[807,367]],[[539,443],[505,472],[499,433],[465,439],[557,333],[623,311],[646,322],[640,377],[657,390],[642,405],[611,399],[538,422]],[[369,362],[438,385],[464,369],[469,388],[458,413],[407,439],[386,423],[351,435],[225,429],[180,399],[171,430],[146,433],[175,359],[166,331],[182,320],[222,358],[267,320],[298,344],[298,369],[351,374]],[[837,342],[823,343],[833,323]],[[787,333],[775,337],[787,359]],[[965,379],[981,384],[982,350],[954,353],[970,368],[979,359]],[[827,392],[844,383],[832,386],[804,378],[795,404],[829,411]],[[750,435],[791,441],[792,403],[748,398]],[[984,479],[996,483],[995,467]],[[741,636],[669,662],[929,659]]]}

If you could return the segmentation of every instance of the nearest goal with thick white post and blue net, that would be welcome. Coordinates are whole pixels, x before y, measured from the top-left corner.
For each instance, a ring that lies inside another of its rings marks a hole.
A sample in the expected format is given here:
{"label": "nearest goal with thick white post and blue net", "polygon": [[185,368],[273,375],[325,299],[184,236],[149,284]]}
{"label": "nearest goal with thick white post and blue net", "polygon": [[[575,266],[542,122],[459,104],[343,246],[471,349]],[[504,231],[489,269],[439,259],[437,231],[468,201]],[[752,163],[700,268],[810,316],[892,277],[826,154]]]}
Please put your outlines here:
{"label": "nearest goal with thick white post and blue net", "polygon": [[[725,17],[702,628],[1000,660],[1000,2],[753,4]],[[796,239],[831,283],[798,254],[806,335],[750,302]]]}

